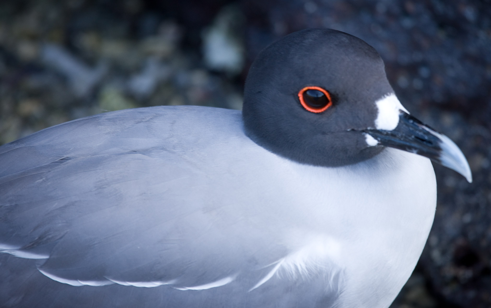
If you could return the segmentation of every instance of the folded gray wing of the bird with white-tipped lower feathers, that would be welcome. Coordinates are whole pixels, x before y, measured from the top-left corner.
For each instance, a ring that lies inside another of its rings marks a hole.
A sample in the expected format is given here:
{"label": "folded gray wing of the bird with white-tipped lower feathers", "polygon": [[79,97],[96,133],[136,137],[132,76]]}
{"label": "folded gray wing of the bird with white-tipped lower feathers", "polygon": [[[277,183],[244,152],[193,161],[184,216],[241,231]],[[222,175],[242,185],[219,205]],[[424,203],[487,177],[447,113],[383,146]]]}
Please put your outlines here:
{"label": "folded gray wing of the bird with white-tipped lower feathers", "polygon": [[[98,137],[92,142],[98,151],[73,150],[81,148],[76,140],[72,149],[58,147],[60,139],[65,144],[71,134],[79,136],[103,119],[71,122],[68,128],[58,126],[63,129],[7,145],[0,156],[2,165],[11,164],[19,153],[28,164],[21,170],[6,169],[0,178],[0,215],[5,222],[0,241],[16,248],[4,252],[41,259],[41,273],[72,285],[171,281],[184,288],[218,285],[286,253],[254,238],[253,232],[241,236],[240,221],[217,224],[223,217],[210,214],[224,206],[217,188],[196,168],[199,161],[181,155],[172,144],[171,149],[165,147],[169,144],[124,149],[126,142]],[[114,131],[113,127],[110,133]],[[51,133],[56,137],[48,139],[55,143],[53,149],[39,143]],[[90,132],[88,136],[95,138]],[[107,146],[101,148],[101,143]],[[257,249],[271,256],[251,262],[250,251]]]}

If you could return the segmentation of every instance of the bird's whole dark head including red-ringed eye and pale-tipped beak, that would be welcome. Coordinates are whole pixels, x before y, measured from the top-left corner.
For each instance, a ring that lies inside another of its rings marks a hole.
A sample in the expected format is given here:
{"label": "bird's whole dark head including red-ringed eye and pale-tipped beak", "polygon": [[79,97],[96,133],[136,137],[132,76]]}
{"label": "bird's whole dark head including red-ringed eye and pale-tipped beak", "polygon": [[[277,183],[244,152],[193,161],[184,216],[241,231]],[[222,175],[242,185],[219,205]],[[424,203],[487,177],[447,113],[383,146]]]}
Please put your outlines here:
{"label": "bird's whole dark head including red-ringed eye and pale-tipped beak", "polygon": [[445,152],[449,140],[408,114],[387,81],[382,58],[353,35],[305,29],[283,37],[254,60],[244,92],[247,136],[285,158],[345,166],[391,146],[470,178],[462,152],[452,141],[453,152]]}

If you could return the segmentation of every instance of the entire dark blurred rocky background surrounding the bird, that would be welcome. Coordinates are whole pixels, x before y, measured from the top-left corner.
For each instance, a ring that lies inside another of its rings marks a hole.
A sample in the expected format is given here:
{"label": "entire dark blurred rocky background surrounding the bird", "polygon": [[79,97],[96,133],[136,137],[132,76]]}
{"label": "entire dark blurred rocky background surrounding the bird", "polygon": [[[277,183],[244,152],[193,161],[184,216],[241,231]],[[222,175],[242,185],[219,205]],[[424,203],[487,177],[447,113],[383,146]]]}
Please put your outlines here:
{"label": "entire dark blurred rocky background surrounding the bird", "polygon": [[254,57],[302,28],[375,47],[473,172],[435,165],[435,224],[392,308],[491,307],[491,0],[1,0],[0,144],[126,108],[241,109]]}

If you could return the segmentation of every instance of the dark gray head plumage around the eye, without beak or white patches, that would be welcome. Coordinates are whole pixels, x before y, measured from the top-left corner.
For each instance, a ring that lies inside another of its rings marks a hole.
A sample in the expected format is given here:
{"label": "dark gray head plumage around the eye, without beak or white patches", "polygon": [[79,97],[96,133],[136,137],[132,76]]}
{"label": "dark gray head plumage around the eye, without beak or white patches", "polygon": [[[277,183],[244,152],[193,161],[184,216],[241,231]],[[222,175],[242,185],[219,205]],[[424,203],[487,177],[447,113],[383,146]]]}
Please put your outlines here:
{"label": "dark gray head plumage around the eye, without beak or white patches", "polygon": [[[298,93],[318,86],[332,106],[310,112]],[[286,158],[311,165],[343,166],[371,158],[357,131],[375,128],[375,102],[393,90],[381,57],[355,36],[331,29],[305,29],[263,50],[250,67],[244,97],[249,137]]]}

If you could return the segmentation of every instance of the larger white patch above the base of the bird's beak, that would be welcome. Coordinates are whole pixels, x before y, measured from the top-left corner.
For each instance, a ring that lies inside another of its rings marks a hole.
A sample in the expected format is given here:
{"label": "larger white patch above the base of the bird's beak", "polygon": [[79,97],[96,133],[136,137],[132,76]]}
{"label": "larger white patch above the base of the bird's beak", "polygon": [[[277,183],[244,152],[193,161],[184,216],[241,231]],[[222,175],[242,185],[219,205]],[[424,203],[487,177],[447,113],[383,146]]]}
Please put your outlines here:
{"label": "larger white patch above the base of the bird's beak", "polygon": [[[377,129],[391,131],[399,124],[399,111],[409,113],[394,93],[384,95],[380,100],[375,102],[379,113],[375,119]],[[367,142],[368,143],[368,142]]]}

